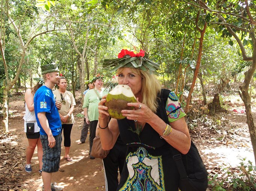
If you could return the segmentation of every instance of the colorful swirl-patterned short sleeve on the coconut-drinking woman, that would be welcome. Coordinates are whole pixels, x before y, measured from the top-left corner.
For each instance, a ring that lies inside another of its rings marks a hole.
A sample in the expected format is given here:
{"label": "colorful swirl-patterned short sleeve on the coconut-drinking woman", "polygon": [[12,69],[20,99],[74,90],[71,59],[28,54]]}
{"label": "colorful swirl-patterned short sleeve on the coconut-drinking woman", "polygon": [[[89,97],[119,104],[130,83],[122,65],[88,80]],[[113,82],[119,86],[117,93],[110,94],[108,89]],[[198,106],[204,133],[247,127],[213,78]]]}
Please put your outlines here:
{"label": "colorful swirl-patterned short sleeve on the coconut-drinking woman", "polygon": [[175,120],[186,116],[186,113],[182,109],[180,101],[174,92],[170,92],[165,109],[169,122],[174,122]]}

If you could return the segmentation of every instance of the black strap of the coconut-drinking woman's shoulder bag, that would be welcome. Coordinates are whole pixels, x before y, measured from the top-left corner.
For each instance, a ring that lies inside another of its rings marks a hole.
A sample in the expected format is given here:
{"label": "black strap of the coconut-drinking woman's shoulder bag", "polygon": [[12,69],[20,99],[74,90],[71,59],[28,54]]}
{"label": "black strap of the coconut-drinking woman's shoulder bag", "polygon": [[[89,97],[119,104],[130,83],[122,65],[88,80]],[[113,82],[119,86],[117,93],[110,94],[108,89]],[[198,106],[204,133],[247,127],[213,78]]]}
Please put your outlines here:
{"label": "black strap of the coconut-drinking woman's shoulder bag", "polygon": [[[170,90],[162,89],[161,94],[160,94],[161,106],[159,106],[159,107],[162,108],[160,110],[160,113],[161,113],[162,119],[165,120],[166,123],[168,123],[168,116],[166,115],[165,104],[166,104],[166,101],[168,99],[170,92],[171,92]],[[172,146],[171,146],[171,151],[172,151],[173,159],[176,163],[177,169],[180,173],[180,178],[187,178],[187,173],[186,173],[183,161],[182,161],[182,156],[181,156],[180,151],[178,151],[177,149],[175,149]]]}

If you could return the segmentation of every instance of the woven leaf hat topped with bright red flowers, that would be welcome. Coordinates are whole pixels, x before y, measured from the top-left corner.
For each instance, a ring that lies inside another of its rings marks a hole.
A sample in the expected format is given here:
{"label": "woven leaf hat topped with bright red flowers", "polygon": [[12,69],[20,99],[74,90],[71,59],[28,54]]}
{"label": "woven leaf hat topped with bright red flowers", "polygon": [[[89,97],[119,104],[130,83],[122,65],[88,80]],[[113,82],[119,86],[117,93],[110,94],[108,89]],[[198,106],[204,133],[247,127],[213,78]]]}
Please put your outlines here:
{"label": "woven leaf hat topped with bright red flowers", "polygon": [[135,54],[133,51],[122,49],[118,54],[117,59],[105,59],[103,68],[107,66],[114,66],[110,72],[116,71],[118,68],[136,68],[142,71],[156,71],[160,70],[159,64],[146,59],[145,51],[140,50],[139,53]]}

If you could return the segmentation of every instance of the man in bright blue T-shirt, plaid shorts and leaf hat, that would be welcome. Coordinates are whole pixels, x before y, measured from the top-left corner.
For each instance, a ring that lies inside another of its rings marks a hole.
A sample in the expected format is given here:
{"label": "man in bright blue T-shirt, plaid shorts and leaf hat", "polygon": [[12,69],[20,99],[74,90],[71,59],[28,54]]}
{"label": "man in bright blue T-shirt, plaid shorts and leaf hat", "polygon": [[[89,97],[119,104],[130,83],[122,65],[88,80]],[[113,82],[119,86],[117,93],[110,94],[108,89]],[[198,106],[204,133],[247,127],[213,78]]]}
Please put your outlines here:
{"label": "man in bright blue T-shirt, plaid shorts and leaf hat", "polygon": [[52,88],[60,80],[55,63],[42,65],[41,71],[45,84],[34,95],[34,111],[40,127],[40,139],[43,147],[42,179],[43,191],[61,191],[62,187],[51,183],[52,173],[60,168],[61,120],[58,110],[61,103],[55,100]]}

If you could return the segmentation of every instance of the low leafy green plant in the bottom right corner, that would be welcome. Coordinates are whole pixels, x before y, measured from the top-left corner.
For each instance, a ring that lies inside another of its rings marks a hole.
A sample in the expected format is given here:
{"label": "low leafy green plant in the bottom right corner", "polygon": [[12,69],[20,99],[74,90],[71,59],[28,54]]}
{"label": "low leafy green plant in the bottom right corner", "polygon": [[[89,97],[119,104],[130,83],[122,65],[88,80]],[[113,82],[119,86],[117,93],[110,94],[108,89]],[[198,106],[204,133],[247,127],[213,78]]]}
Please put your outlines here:
{"label": "low leafy green plant in the bottom right corner", "polygon": [[[223,169],[223,174],[227,177],[219,179],[218,174],[213,177],[209,177],[208,184],[213,187],[213,191],[226,191],[226,190],[237,190],[237,191],[250,191],[256,190],[256,166],[252,165],[252,162],[248,160],[245,164],[246,158],[240,159],[242,162],[236,170],[229,171]],[[235,173],[234,173],[235,172]]]}

